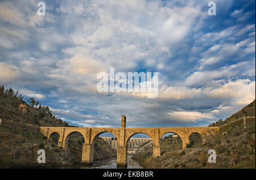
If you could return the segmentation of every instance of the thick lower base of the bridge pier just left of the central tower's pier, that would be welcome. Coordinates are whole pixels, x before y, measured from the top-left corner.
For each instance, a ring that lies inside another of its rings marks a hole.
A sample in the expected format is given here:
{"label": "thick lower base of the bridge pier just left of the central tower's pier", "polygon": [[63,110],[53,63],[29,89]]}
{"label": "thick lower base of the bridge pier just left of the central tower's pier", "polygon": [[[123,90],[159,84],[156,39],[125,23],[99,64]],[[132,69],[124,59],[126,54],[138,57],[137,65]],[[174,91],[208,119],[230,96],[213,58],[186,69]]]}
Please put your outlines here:
{"label": "thick lower base of the bridge pier just left of the central tower's pier", "polygon": [[83,144],[82,145],[82,165],[92,165],[93,164],[93,154],[94,154],[94,145]]}

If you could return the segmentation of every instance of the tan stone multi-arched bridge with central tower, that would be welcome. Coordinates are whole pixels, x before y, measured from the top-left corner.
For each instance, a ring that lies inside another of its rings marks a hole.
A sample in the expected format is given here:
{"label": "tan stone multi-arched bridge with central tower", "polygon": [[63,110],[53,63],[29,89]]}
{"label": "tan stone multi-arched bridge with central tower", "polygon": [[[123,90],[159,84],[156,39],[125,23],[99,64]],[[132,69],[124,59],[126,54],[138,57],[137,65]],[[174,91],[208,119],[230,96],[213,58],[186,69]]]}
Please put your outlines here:
{"label": "tan stone multi-arched bridge with central tower", "polygon": [[73,132],[79,132],[84,136],[82,145],[81,163],[93,164],[94,140],[96,136],[104,132],[112,133],[118,142],[117,146],[117,166],[127,166],[127,145],[131,136],[137,133],[144,133],[150,137],[153,143],[153,156],[160,156],[160,139],[166,133],[175,133],[180,136],[183,148],[189,144],[189,136],[198,133],[202,141],[208,135],[219,132],[219,127],[170,127],[170,128],[126,128],[126,116],[122,115],[120,128],[90,128],[90,127],[40,127],[40,132],[47,136],[48,140],[54,133],[59,134],[58,146],[67,147],[68,139]]}

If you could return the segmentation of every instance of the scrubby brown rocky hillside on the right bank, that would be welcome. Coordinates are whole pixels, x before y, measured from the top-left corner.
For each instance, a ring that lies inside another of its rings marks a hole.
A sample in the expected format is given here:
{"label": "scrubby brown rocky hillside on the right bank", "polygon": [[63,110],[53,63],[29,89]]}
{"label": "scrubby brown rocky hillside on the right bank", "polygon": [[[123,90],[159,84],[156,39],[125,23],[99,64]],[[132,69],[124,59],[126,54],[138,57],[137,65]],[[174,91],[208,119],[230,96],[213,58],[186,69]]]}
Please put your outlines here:
{"label": "scrubby brown rocky hillside on the right bank", "polygon": [[[255,116],[255,101],[230,118],[243,115]],[[204,144],[199,137],[189,140],[191,143],[182,149],[177,137],[165,137],[160,141],[160,157],[151,156],[152,144],[148,143],[133,158],[144,168],[255,168],[255,118],[246,119],[246,128],[242,121],[222,127],[220,134],[208,136]],[[208,163],[209,149],[216,150],[216,164]]]}

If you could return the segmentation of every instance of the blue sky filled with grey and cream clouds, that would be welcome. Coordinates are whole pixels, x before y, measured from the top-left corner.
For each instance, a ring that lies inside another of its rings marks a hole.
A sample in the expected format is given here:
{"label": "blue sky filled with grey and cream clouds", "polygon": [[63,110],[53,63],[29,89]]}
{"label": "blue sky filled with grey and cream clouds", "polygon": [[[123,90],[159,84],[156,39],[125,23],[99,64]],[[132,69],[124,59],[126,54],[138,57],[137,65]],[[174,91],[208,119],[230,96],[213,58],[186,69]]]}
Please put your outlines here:
{"label": "blue sky filled with grey and cream clouds", "polygon": [[[0,85],[79,127],[202,127],[255,99],[255,0],[0,1]],[[158,72],[158,97],[97,74]]]}

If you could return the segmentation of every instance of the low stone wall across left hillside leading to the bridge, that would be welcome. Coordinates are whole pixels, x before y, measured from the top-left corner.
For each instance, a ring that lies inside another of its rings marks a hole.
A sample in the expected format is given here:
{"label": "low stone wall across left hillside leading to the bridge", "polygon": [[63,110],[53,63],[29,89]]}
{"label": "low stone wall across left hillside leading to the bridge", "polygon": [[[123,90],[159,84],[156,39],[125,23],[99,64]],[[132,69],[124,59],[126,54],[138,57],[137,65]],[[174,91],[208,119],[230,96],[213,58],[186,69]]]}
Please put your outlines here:
{"label": "low stone wall across left hillside leading to the bridge", "polygon": [[23,124],[13,120],[0,119],[0,127],[10,127],[29,131],[40,131],[40,128],[32,124]]}

